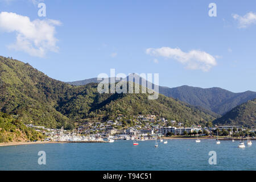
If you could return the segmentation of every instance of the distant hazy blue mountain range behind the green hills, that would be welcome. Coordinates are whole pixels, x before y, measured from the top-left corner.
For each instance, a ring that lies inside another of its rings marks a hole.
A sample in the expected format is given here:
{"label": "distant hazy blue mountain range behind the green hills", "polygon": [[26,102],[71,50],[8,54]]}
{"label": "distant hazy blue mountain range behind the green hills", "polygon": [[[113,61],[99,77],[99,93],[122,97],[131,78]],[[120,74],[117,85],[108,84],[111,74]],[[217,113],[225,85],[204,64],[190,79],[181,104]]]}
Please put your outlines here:
{"label": "distant hazy blue mountain range behind the green hills", "polygon": [[[134,73],[133,73],[134,74]],[[127,80],[142,84],[144,78],[134,75],[134,80]],[[138,81],[139,80],[139,81]],[[71,85],[85,85],[90,82],[100,82],[97,78],[92,78],[83,81],[68,82]],[[146,81],[145,81],[146,82]],[[148,82],[147,82],[148,83]],[[154,84],[152,84],[154,87]],[[256,92],[246,91],[242,93],[233,93],[221,88],[199,88],[193,86],[178,86],[176,88],[168,88],[159,86],[159,93],[167,97],[172,97],[183,102],[187,102],[193,106],[200,106],[204,109],[211,110],[217,114],[225,114],[237,105],[248,100],[256,98]]]}

